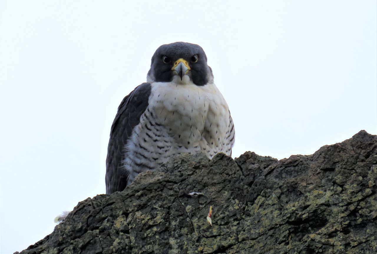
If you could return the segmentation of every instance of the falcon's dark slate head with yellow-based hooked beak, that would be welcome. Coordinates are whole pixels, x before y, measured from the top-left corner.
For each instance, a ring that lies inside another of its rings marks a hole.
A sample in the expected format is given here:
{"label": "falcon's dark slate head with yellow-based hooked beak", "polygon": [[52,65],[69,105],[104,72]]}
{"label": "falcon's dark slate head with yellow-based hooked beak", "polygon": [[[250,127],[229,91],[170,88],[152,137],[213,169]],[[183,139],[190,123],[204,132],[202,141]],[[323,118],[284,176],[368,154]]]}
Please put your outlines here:
{"label": "falcon's dark slate head with yellow-based hooked beak", "polygon": [[159,46],[153,54],[147,82],[172,81],[197,86],[213,82],[212,70],[201,46],[186,42]]}

